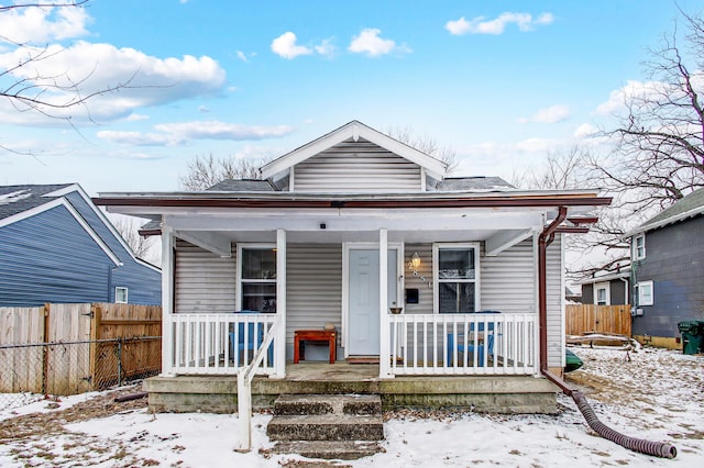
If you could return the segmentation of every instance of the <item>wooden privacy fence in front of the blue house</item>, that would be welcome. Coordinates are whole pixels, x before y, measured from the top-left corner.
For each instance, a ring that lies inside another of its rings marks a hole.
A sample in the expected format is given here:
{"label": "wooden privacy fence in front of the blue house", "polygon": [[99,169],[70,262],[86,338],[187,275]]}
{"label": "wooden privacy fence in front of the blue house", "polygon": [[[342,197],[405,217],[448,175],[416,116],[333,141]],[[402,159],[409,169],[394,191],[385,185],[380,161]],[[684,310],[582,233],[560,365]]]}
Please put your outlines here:
{"label": "wooden privacy fence in front of the blue house", "polygon": [[0,308],[0,392],[72,394],[157,374],[161,334],[155,305]]}

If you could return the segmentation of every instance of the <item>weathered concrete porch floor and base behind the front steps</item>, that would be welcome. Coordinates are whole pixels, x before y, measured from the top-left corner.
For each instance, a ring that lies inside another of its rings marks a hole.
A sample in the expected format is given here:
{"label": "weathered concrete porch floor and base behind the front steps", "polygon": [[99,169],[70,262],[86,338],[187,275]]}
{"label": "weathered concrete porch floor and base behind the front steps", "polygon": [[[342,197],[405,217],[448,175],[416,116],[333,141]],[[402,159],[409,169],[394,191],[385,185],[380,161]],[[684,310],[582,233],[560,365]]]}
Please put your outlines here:
{"label": "weathered concrete porch floor and base behind the front steps", "polygon": [[[237,412],[237,376],[152,377],[150,408],[165,412]],[[469,408],[477,412],[556,413],[558,389],[532,376],[378,377],[378,365],[308,361],[286,365],[286,377],[255,377],[254,408],[273,408],[279,394],[380,394],[384,409]]]}

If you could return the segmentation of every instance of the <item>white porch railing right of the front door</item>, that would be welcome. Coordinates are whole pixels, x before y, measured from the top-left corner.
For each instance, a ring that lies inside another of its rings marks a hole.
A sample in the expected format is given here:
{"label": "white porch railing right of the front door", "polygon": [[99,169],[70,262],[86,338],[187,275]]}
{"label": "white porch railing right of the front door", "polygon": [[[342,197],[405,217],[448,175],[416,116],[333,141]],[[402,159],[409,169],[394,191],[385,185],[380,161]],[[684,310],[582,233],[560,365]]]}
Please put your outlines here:
{"label": "white porch railing right of the front door", "polygon": [[532,375],[537,371],[536,314],[387,316],[392,376]]}

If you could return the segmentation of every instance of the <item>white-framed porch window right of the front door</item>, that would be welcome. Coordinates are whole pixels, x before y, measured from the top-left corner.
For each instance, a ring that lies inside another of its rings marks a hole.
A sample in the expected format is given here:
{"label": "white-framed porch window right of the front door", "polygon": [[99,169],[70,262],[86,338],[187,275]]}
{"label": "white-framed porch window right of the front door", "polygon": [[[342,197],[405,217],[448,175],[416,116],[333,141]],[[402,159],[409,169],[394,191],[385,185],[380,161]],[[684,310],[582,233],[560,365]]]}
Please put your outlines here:
{"label": "white-framed porch window right of the front door", "polygon": [[439,313],[479,309],[480,257],[477,244],[435,244],[435,309]]}

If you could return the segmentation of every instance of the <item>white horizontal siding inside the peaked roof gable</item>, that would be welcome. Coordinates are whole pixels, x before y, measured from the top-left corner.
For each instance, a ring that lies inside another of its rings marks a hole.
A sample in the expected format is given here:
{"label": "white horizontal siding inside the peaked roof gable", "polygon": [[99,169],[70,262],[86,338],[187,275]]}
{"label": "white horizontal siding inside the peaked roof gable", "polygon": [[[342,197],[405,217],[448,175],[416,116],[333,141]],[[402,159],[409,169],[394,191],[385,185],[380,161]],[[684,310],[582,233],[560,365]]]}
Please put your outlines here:
{"label": "white horizontal siding inside the peaked roof gable", "polygon": [[419,192],[420,166],[360,138],[292,168],[296,192]]}

